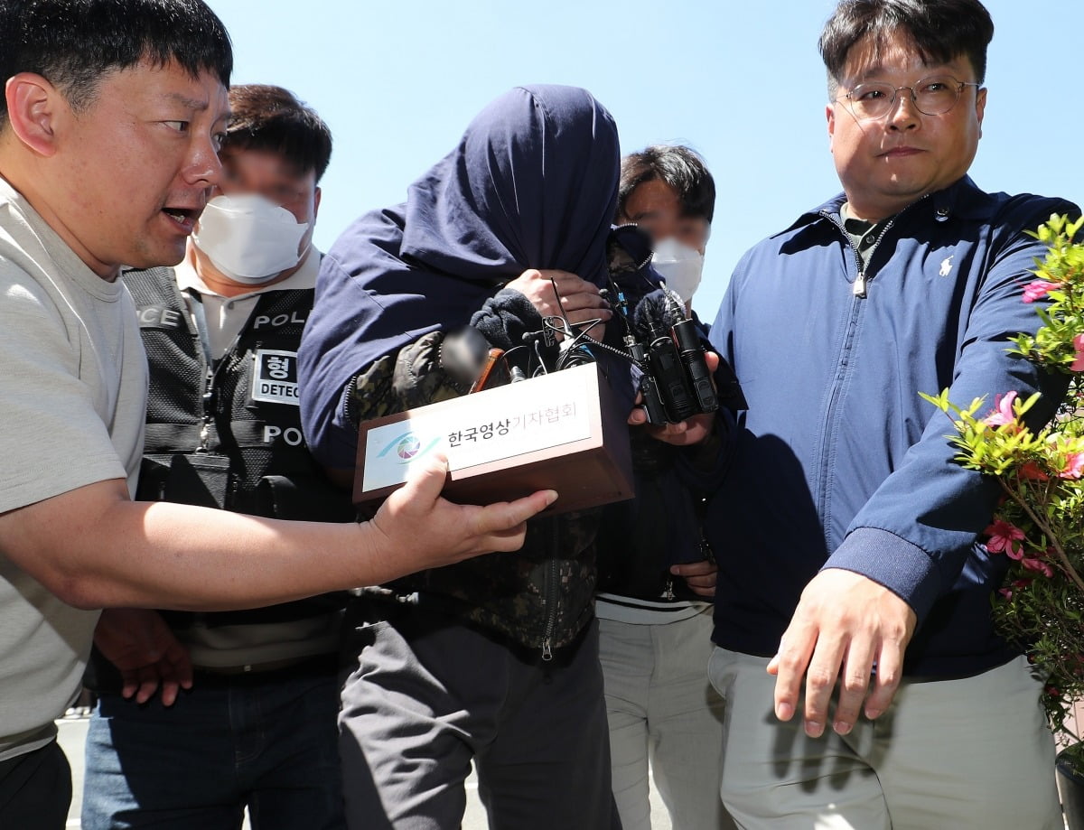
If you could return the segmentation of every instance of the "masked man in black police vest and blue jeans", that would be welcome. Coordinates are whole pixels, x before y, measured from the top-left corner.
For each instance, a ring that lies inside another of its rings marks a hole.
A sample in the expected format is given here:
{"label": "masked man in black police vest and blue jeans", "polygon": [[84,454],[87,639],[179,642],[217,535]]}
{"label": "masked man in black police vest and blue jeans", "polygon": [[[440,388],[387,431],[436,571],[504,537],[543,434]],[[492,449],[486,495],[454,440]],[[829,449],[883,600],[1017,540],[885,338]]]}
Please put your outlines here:
{"label": "masked man in black police vest and blue jeans", "polygon": [[[222,182],[185,259],[124,272],[151,369],[137,497],[349,520],[348,498],[308,453],[297,401],[331,133],[279,87],[234,87],[230,107]],[[340,827],[343,605],[324,595],[238,612],[106,610],[82,826],[150,816],[240,828],[247,806],[259,827]]]}

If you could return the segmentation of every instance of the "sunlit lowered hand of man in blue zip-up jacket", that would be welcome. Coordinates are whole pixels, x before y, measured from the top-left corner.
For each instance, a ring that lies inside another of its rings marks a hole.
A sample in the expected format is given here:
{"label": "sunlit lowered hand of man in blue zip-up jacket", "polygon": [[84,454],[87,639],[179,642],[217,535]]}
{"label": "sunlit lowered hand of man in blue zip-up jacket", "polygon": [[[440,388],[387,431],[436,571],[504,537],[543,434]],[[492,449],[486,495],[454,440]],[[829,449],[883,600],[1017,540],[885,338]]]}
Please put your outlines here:
{"label": "sunlit lowered hand of man in blue zip-up jacket", "polygon": [[803,676],[804,727],[812,738],[824,732],[837,679],[837,732],[851,731],[863,702],[866,717],[882,714],[900,686],[916,621],[911,606],[867,576],[839,568],[821,571],[802,592],[779,652],[767,664],[776,675],[776,717],[793,716]]}

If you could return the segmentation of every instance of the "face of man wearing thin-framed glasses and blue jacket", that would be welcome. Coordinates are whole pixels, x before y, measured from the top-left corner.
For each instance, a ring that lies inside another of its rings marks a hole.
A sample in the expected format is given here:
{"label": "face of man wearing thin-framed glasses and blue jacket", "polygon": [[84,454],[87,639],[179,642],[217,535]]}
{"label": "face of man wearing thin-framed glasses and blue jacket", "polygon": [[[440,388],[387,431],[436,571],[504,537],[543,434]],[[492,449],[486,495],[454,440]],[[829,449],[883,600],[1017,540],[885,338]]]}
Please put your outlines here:
{"label": "face of man wearing thin-framed glasses and blue jacket", "polygon": [[934,75],[976,81],[967,57],[926,64],[899,33],[888,39],[878,59],[868,40],[852,48],[827,117],[836,172],[856,217],[880,221],[949,186],[971,166],[982,134],[984,89],[964,87],[955,106],[940,115],[920,113],[908,89],[896,92],[891,109],[880,119],[860,120],[848,106],[846,94],[860,83],[909,88]]}

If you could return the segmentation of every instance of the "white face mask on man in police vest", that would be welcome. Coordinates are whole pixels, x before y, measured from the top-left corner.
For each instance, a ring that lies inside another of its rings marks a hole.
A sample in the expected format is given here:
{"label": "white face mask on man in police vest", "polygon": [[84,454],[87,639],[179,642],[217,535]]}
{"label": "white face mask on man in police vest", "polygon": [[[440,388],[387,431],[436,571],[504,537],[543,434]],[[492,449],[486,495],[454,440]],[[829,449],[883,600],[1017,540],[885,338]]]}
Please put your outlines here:
{"label": "white face mask on man in police vest", "polygon": [[204,208],[192,242],[225,276],[261,285],[301,261],[309,246],[298,246],[308,230],[308,222],[258,194],[216,196]]}

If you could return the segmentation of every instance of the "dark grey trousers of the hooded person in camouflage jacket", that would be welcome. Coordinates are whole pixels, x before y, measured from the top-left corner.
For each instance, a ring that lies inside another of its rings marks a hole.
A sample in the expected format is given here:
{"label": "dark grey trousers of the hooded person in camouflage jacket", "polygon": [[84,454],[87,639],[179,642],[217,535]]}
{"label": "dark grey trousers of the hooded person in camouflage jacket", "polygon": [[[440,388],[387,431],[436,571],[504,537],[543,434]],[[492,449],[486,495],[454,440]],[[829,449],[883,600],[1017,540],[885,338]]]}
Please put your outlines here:
{"label": "dark grey trousers of the hooded person in camouflage jacket", "polygon": [[459,828],[473,758],[493,830],[620,830],[596,623],[543,662],[452,617],[382,615],[349,636],[339,753],[350,828]]}

